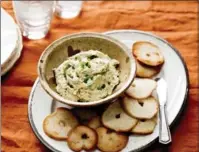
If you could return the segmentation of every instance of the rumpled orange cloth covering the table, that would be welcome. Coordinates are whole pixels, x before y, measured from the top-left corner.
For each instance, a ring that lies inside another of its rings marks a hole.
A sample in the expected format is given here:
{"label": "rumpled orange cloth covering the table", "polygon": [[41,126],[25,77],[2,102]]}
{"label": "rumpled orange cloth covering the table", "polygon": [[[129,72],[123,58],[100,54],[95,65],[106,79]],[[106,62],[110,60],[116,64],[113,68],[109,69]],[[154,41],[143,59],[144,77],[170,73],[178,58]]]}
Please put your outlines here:
{"label": "rumpled orange cloth covering the table", "polygon": [[[11,2],[1,5],[14,16]],[[37,62],[54,40],[70,33],[137,29],[153,32],[173,44],[186,61],[190,92],[180,119],[172,127],[173,142],[162,147],[158,142],[146,151],[198,152],[198,27],[197,2],[174,1],[90,1],[84,2],[75,19],[54,17],[45,39],[23,39],[23,52],[15,67],[2,77],[2,151],[49,151],[34,135],[28,121],[28,97],[37,78]]]}

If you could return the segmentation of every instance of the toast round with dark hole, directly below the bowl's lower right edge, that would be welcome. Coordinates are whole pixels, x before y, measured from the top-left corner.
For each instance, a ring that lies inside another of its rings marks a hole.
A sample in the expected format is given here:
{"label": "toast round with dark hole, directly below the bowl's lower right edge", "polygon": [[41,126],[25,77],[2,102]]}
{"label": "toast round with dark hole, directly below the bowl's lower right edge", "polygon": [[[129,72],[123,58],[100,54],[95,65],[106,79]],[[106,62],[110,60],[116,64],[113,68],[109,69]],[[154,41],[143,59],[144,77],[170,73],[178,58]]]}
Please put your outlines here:
{"label": "toast round with dark hole, directly below the bowl's lower right edge", "polygon": [[137,119],[126,114],[120,102],[115,101],[102,114],[102,123],[109,129],[118,132],[127,132],[136,125]]}

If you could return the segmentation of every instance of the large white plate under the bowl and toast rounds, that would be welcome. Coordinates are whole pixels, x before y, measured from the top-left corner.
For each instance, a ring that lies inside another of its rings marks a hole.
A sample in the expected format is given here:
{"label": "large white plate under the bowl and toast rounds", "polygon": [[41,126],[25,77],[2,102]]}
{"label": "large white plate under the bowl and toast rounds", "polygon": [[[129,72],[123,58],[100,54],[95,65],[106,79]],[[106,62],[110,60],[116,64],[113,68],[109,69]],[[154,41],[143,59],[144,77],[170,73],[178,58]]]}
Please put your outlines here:
{"label": "large white plate under the bowl and toast rounds", "polygon": [[[169,124],[171,125],[180,113],[188,93],[187,68],[180,54],[168,42],[149,33],[120,30],[107,32],[105,34],[122,41],[129,47],[129,50],[131,50],[133,42],[144,40],[150,41],[160,47],[165,57],[165,64],[160,75],[164,77],[168,84],[167,111],[169,111],[169,113],[167,114]],[[52,151],[70,152],[71,150],[68,148],[65,141],[55,141],[49,138],[45,135],[42,128],[44,118],[52,113],[56,107],[60,106],[66,107],[59,102],[54,102],[42,89],[37,79],[33,86],[28,105],[29,121],[33,131],[42,143]],[[159,125],[156,126],[155,131],[150,135],[131,135],[129,137],[129,142],[123,151],[138,151],[146,148],[158,138],[158,128]]]}

